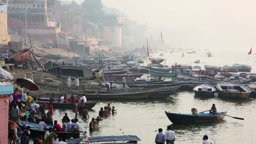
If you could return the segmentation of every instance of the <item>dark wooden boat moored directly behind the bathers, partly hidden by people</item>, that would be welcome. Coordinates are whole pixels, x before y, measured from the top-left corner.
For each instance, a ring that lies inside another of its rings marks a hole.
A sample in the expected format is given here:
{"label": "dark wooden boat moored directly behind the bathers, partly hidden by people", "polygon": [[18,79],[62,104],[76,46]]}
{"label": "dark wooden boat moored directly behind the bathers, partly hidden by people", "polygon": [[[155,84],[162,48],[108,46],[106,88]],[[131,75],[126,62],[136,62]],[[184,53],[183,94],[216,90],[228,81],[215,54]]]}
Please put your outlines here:
{"label": "dark wooden boat moored directly behind the bathers, partly hidden by people", "polygon": [[[92,109],[98,101],[87,101],[85,106],[87,109]],[[53,108],[56,109],[74,109],[74,103],[59,103],[58,101],[52,103]]]}

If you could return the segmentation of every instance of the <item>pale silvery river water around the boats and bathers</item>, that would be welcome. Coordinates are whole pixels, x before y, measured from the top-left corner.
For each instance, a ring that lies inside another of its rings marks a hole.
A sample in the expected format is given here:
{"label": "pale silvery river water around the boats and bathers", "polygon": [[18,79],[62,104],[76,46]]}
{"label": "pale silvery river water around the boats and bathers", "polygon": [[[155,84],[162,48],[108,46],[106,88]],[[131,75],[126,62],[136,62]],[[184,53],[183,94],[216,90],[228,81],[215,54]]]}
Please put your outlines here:
{"label": "pale silvery river water around the boats and bathers", "polygon": [[[249,51],[249,50],[248,50]],[[199,51],[196,54],[187,54],[181,57],[181,52],[164,53],[167,57],[166,64],[192,64],[190,62],[200,59],[201,62],[209,65],[234,64],[235,62],[247,63],[247,50],[245,51],[219,51],[213,53],[213,57],[205,56],[207,51]],[[242,53],[242,54],[241,54]],[[158,53],[159,55],[159,53]],[[157,57],[157,54],[155,54]],[[255,56],[251,55],[248,64],[256,66]],[[163,62],[164,63],[164,62]],[[199,64],[201,66],[203,64]],[[255,68],[255,67],[254,67]],[[176,133],[176,144],[199,144],[202,143],[203,135],[208,135],[213,144],[256,144],[256,99],[230,100],[214,97],[197,97],[192,91],[179,91],[166,99],[144,100],[144,101],[100,101],[89,111],[90,119],[97,117],[100,107],[115,106],[117,114],[103,118],[99,129],[89,133],[88,136],[110,136],[110,135],[136,135],[141,139],[141,144],[154,144],[155,135],[158,128],[166,131],[167,125],[171,121],[165,115],[165,111],[189,113],[191,108],[197,108],[202,112],[216,104],[217,111],[228,111],[228,115],[243,117],[245,120],[237,120],[231,117],[225,117],[221,123],[202,124],[202,125],[172,125]],[[61,119],[67,112],[69,118],[74,118],[75,113],[67,109],[54,109],[53,120]],[[88,131],[87,120],[78,119],[83,130]],[[89,120],[90,121],[90,120]]]}

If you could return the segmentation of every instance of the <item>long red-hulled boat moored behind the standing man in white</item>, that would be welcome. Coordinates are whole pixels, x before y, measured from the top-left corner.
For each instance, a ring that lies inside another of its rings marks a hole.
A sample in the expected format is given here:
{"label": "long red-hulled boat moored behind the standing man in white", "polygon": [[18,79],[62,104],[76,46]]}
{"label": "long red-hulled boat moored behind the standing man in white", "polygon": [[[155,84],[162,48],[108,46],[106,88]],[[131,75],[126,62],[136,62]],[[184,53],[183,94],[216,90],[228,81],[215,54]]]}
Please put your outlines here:
{"label": "long red-hulled boat moored behind the standing man in white", "polygon": [[131,82],[137,77],[141,77],[143,74],[123,74],[123,75],[105,75],[107,81],[122,81],[125,76],[127,82]]}

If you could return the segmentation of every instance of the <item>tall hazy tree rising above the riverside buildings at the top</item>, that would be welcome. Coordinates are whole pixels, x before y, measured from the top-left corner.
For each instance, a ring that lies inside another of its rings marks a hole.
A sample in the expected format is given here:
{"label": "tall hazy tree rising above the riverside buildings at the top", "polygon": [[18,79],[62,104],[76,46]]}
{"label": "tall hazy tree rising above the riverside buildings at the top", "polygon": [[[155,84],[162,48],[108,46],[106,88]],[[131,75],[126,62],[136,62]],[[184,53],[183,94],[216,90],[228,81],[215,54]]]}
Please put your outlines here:
{"label": "tall hazy tree rising above the riverside buildings at the top", "polygon": [[85,19],[95,24],[104,22],[105,13],[102,10],[101,0],[85,0],[81,5],[84,9]]}

